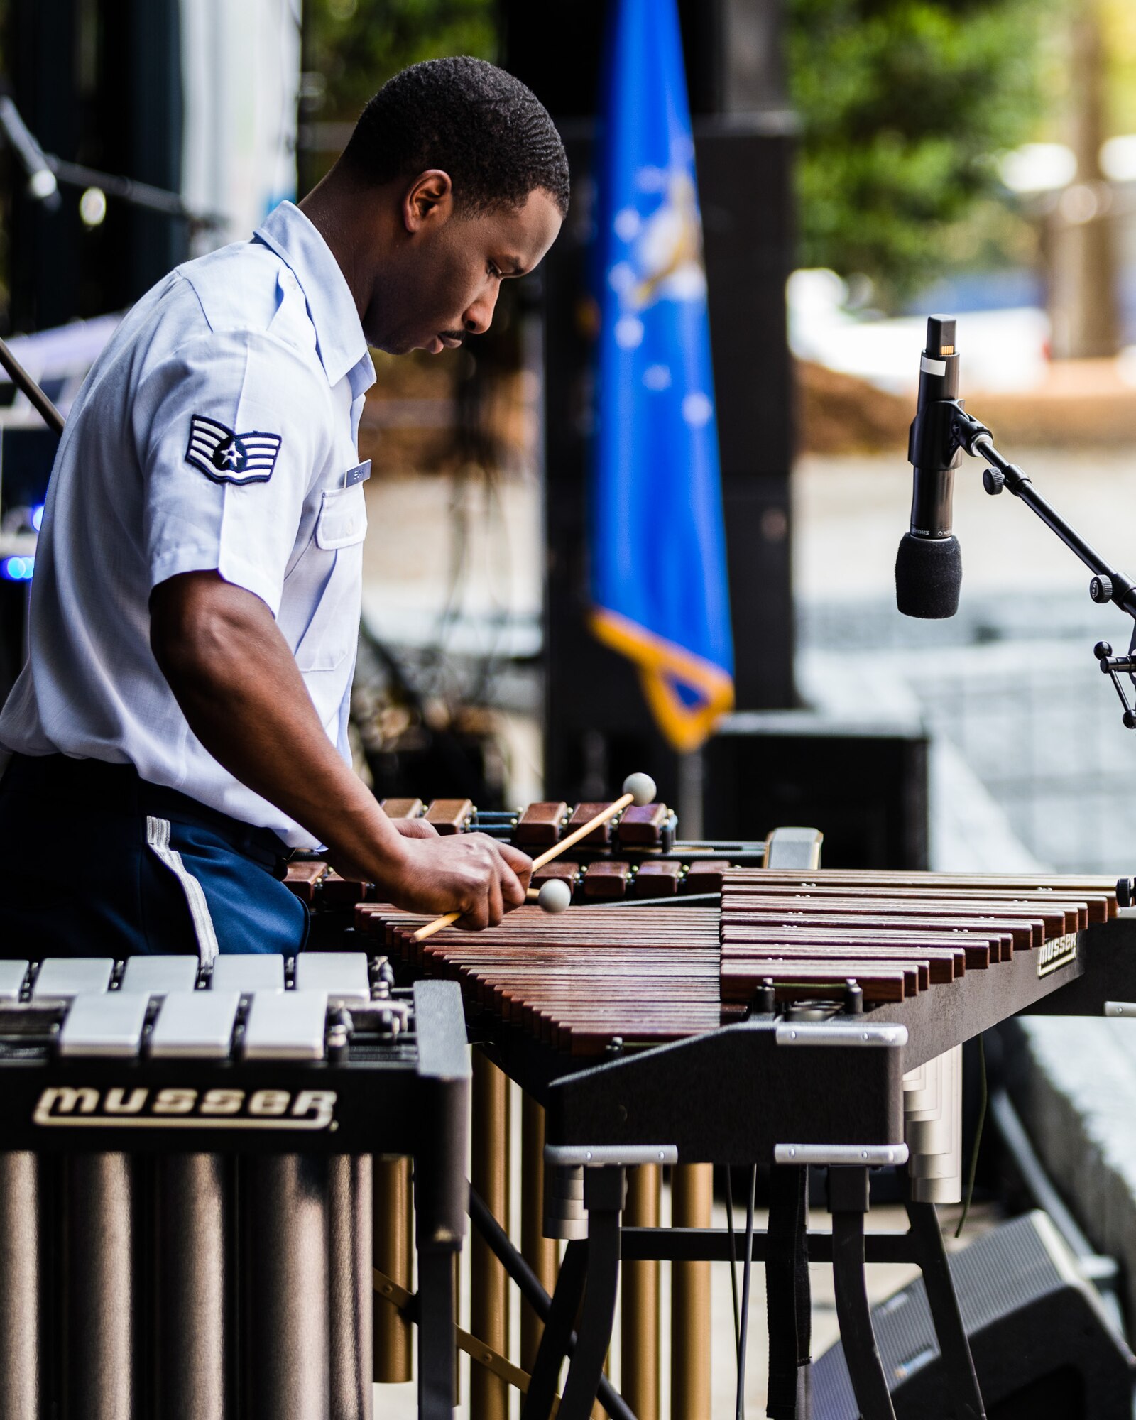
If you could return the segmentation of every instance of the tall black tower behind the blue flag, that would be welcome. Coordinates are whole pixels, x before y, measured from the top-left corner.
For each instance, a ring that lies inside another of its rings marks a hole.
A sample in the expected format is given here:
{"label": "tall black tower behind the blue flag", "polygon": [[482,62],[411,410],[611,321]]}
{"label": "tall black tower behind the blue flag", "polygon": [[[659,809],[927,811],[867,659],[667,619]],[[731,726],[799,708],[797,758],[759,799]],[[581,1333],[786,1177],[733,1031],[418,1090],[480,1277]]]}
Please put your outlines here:
{"label": "tall black tower behind the blue flag", "polygon": [[[740,709],[794,703],[785,332],[790,165],[780,0],[679,0],[701,200]],[[679,757],[633,667],[588,632],[586,477],[592,346],[586,244],[604,0],[504,0],[506,65],[561,126],[572,210],[544,267],[547,717],[557,795],[601,797],[648,770],[674,802]],[[550,43],[550,36],[555,37]]]}

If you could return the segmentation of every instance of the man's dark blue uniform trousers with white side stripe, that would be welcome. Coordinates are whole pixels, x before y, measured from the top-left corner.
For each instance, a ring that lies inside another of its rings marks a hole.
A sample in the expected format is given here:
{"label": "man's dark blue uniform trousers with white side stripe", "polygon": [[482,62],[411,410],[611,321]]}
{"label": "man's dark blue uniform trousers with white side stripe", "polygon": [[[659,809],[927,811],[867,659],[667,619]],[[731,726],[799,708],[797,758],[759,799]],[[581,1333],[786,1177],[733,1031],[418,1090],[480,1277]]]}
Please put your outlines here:
{"label": "man's dark blue uniform trousers with white side stripe", "polygon": [[288,852],[133,765],[17,754],[0,780],[0,957],[298,951]]}

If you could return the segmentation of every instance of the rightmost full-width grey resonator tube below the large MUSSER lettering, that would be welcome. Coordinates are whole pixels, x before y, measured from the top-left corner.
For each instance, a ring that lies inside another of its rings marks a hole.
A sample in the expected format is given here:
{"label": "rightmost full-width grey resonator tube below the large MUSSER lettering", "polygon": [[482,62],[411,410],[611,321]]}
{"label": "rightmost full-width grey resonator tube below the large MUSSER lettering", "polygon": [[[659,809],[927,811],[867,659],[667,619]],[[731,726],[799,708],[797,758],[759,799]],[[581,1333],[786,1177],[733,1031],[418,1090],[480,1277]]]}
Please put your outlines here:
{"label": "rightmost full-width grey resonator tube below the large MUSSER lettering", "polygon": [[327,1160],[247,1160],[246,1410],[257,1420],[327,1420]]}

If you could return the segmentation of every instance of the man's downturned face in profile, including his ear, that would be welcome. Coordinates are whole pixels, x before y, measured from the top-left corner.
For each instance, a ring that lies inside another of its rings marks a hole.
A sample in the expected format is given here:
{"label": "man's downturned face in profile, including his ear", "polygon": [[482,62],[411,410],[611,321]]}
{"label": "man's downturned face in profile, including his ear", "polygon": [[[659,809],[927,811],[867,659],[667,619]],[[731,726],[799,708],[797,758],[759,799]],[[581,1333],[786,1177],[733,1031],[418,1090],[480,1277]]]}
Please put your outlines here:
{"label": "man's downturned face in profile, including his ear", "polygon": [[454,213],[449,179],[444,189],[425,197],[412,189],[405,240],[393,263],[376,271],[364,331],[390,355],[439,355],[487,331],[501,281],[531,271],[559,231],[559,212],[540,187],[523,207],[470,217]]}

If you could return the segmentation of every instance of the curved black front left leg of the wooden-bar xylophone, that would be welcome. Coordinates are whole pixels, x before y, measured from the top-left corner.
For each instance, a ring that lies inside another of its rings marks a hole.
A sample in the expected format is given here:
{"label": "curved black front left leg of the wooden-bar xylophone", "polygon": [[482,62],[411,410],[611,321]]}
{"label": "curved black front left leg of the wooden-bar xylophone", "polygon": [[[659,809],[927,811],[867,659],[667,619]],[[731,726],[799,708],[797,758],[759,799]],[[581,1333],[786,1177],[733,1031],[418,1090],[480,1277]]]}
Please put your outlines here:
{"label": "curved black front left leg of the wooden-bar xylophone", "polygon": [[604,1360],[612,1338],[615,1294],[619,1285],[619,1214],[623,1210],[623,1170],[584,1170],[584,1201],[588,1207],[588,1277],[579,1314],[579,1332],[561,1420],[588,1420],[595,1404]]}

